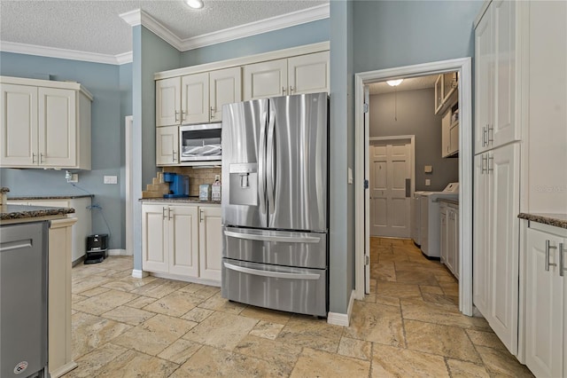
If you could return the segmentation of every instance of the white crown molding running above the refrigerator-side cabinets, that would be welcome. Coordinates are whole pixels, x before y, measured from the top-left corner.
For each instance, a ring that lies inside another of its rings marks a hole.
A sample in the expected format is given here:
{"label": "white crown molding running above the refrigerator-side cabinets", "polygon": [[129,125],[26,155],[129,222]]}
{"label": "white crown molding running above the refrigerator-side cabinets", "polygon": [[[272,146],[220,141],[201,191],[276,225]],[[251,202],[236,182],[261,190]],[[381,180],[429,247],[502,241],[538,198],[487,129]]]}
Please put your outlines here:
{"label": "white crown molding running above the refrigerator-side cabinets", "polygon": [[330,5],[322,4],[306,10],[291,12],[266,20],[259,20],[234,28],[227,28],[219,30],[218,32],[183,39],[181,40],[181,48],[177,50],[189,51],[198,49],[199,47],[205,47],[215,43],[233,41],[246,36],[259,35],[274,30],[305,24],[311,21],[328,19],[329,16]]}

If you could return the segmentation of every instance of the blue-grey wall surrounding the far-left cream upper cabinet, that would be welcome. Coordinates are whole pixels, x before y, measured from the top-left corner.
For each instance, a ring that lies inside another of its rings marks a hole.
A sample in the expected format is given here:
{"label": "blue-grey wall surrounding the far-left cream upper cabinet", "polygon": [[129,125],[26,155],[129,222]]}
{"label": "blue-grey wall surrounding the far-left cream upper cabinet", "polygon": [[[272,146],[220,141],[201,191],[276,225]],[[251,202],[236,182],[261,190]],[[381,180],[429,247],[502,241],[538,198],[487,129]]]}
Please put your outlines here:
{"label": "blue-grey wall surrounding the far-left cream upper cabinet", "polygon": [[[92,232],[111,232],[110,248],[123,248],[123,205],[120,198],[123,177],[123,115],[128,89],[128,65],[83,62],[70,59],[38,57],[0,52],[0,75],[73,80],[89,90],[92,102],[91,151],[92,170],[74,170],[79,174],[76,186],[66,183],[65,171],[43,169],[0,169],[0,181],[11,189],[10,196],[95,194],[93,203],[102,210],[92,210]],[[125,85],[120,88],[120,75]],[[131,88],[131,86],[129,87]],[[120,185],[104,185],[105,175],[118,176]]]}

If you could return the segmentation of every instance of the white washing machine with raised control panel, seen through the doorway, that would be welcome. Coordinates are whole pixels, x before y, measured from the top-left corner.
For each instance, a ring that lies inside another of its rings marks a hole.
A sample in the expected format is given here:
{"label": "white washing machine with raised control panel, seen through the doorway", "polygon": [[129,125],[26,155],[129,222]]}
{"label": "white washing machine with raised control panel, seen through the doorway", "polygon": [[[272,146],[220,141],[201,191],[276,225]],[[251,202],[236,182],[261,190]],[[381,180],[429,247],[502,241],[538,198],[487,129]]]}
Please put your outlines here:
{"label": "white washing machine with raised control panel, seen through the doorway", "polygon": [[449,183],[442,192],[416,192],[419,197],[419,245],[423,255],[439,258],[439,199],[459,200],[459,183]]}

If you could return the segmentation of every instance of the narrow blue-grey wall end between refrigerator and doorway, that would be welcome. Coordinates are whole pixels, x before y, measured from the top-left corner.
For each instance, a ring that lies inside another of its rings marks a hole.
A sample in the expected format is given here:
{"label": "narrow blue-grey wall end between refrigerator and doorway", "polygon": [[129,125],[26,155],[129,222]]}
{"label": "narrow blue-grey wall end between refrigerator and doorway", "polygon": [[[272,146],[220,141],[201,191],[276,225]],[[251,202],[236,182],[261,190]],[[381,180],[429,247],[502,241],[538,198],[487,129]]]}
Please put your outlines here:
{"label": "narrow blue-grey wall end between refrigerator and doorway", "polygon": [[346,313],[354,288],[353,2],[330,2],[330,298]]}

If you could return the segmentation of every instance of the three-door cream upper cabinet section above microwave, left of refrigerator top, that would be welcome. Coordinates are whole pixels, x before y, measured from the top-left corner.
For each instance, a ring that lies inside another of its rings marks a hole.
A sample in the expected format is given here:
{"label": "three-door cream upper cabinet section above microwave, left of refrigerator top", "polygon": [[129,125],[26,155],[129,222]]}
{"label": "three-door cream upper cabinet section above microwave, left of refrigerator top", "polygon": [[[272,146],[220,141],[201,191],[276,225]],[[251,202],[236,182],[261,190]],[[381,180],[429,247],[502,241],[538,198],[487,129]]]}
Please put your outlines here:
{"label": "three-door cream upper cabinet section above microwave, left of refrigerator top", "polygon": [[222,105],[242,99],[240,67],[156,81],[156,127],[222,121]]}

